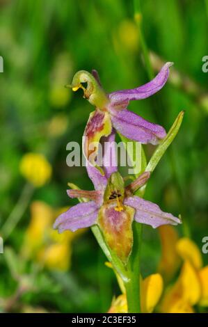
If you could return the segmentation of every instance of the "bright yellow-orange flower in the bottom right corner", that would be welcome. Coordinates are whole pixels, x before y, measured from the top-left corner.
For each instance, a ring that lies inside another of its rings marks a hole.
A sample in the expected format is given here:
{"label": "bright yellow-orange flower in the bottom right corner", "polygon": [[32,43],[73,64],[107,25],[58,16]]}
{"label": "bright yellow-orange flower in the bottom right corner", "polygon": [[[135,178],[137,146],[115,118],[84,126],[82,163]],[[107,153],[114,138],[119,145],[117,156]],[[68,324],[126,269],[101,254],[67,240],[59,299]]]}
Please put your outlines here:
{"label": "bright yellow-orange flower in the bottom right corner", "polygon": [[[193,313],[193,306],[196,304],[208,306],[208,266],[202,268],[202,255],[198,246],[191,239],[183,237],[174,244],[175,249],[170,252],[170,257],[172,253],[175,253],[173,260],[178,262],[178,258],[180,258],[183,264],[176,282],[166,289],[160,311]],[[173,275],[174,273],[175,268]]]}

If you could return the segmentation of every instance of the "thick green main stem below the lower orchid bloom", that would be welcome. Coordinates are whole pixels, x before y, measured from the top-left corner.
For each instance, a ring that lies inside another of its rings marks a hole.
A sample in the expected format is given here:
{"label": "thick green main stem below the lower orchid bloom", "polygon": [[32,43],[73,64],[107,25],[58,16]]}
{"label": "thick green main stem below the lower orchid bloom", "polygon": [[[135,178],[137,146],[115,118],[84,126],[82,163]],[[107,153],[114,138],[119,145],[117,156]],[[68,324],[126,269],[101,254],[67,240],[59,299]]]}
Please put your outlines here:
{"label": "thick green main stem below the lower orchid bloom", "polygon": [[127,292],[127,304],[129,313],[141,312],[141,244],[142,244],[142,224],[133,223],[134,247],[127,266],[129,280],[125,282]]}

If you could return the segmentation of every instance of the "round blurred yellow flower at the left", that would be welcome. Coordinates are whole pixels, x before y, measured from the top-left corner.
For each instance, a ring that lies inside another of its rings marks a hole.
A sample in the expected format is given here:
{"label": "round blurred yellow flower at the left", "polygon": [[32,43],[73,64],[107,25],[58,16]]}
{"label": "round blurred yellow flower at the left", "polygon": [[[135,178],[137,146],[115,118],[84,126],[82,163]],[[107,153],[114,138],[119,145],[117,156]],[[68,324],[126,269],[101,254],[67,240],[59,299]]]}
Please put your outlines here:
{"label": "round blurred yellow flower at the left", "polygon": [[19,163],[19,170],[33,186],[45,185],[50,177],[52,168],[44,155],[29,152],[24,154]]}

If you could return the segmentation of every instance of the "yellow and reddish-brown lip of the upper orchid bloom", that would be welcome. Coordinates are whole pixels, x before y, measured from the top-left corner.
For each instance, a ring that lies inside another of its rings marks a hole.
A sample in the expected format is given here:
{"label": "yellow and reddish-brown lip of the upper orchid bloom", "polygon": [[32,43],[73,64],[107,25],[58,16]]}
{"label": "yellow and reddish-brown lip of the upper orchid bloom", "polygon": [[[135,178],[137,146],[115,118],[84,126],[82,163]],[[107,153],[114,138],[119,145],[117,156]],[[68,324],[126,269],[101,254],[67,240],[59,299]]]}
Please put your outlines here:
{"label": "yellow and reddish-brown lip of the upper orchid bloom", "polygon": [[107,111],[97,109],[90,113],[83,137],[83,153],[90,163],[95,165],[99,140],[102,136],[109,136],[111,130],[111,117]]}

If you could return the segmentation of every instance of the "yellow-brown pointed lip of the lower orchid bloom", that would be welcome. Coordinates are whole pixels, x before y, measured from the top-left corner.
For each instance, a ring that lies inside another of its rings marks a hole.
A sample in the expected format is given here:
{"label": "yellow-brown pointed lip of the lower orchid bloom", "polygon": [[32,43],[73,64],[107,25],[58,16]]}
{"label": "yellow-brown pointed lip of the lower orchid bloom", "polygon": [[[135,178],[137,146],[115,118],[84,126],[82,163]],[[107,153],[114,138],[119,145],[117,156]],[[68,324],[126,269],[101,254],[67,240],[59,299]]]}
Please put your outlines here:
{"label": "yellow-brown pointed lip of the lower orchid bloom", "polygon": [[124,206],[122,211],[117,211],[116,206],[116,201],[102,205],[99,210],[98,225],[109,248],[126,264],[133,244],[131,225],[134,209]]}

